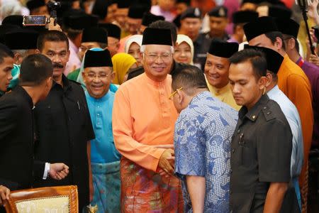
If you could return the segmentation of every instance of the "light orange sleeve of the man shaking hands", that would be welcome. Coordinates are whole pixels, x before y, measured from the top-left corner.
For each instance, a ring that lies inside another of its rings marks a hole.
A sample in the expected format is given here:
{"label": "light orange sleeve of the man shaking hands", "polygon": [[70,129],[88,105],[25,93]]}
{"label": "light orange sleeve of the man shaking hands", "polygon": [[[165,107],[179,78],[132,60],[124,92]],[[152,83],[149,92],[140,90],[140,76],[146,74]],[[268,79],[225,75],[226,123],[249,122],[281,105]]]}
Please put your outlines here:
{"label": "light orange sleeve of the man shaking hands", "polygon": [[120,87],[115,95],[112,115],[115,146],[128,160],[148,170],[156,171],[159,158],[165,150],[135,141],[131,110],[128,92],[125,91],[125,88]]}

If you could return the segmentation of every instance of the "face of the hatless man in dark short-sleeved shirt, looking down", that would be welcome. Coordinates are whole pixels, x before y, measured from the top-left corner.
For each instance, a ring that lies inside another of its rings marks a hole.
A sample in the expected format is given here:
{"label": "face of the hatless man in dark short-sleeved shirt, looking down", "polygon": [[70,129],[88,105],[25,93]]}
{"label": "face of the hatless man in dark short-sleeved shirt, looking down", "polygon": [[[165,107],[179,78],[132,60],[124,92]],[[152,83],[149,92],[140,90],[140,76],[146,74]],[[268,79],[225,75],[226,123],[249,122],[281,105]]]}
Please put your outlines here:
{"label": "face of the hatless man in dark short-sleeved shirt, looking down", "polygon": [[[237,105],[248,109],[262,97],[267,77],[257,79],[250,61],[231,64],[229,69],[230,88]],[[266,79],[266,80],[265,80]]]}

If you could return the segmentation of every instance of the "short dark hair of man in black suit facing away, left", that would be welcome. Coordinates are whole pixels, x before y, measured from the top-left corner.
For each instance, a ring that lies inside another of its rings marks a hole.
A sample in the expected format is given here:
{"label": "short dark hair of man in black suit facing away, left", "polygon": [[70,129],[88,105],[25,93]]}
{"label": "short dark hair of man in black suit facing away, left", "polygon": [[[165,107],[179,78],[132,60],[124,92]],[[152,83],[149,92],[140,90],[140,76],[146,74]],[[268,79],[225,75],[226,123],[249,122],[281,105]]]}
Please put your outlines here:
{"label": "short dark hair of man in black suit facing away, left", "polygon": [[50,58],[42,54],[28,55],[21,63],[19,84],[37,86],[52,77],[53,66]]}

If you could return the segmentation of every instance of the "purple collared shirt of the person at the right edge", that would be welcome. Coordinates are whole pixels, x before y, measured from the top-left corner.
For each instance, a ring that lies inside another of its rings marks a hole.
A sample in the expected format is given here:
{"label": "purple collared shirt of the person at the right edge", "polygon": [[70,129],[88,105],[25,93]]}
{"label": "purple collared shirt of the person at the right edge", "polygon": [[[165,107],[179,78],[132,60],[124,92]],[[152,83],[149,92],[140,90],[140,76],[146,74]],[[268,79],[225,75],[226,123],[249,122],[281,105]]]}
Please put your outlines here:
{"label": "purple collared shirt of the person at the right edge", "polygon": [[310,62],[299,58],[296,64],[303,69],[303,72],[308,77],[311,85],[311,92],[313,94],[313,142],[312,145],[319,146],[319,67]]}

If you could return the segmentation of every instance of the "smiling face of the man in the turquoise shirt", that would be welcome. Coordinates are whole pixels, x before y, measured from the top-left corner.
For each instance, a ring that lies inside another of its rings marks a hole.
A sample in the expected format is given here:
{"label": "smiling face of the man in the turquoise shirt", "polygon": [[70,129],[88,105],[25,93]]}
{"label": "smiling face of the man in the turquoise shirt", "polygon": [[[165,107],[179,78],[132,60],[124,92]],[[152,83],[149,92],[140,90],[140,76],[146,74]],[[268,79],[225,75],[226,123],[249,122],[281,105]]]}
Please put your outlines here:
{"label": "smiling face of the man in the turquoise shirt", "polygon": [[114,78],[111,67],[86,67],[82,72],[87,92],[96,99],[103,97]]}

